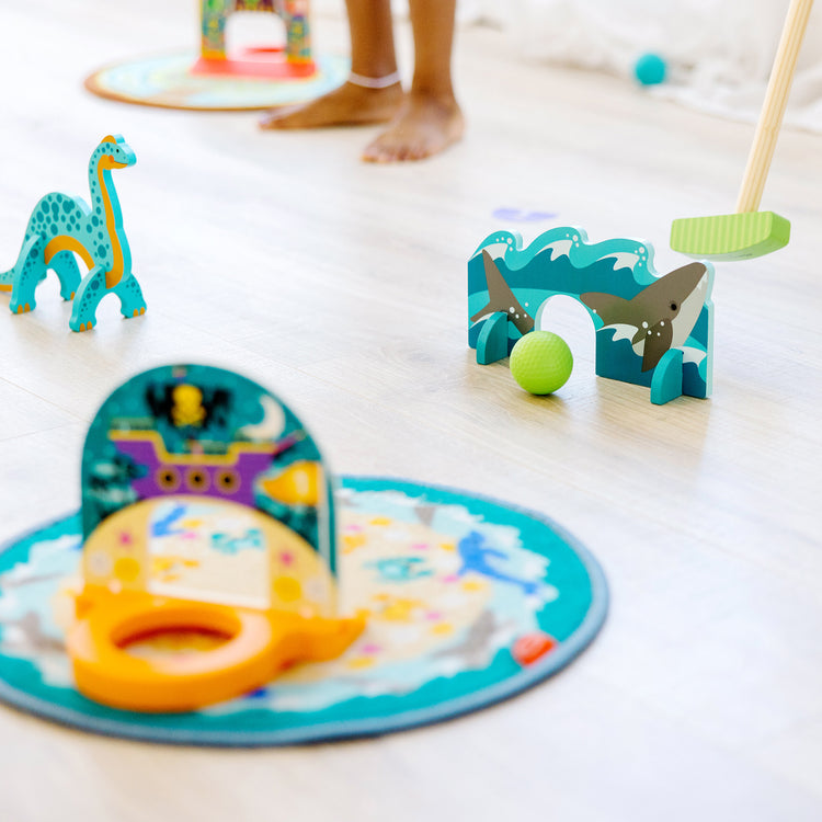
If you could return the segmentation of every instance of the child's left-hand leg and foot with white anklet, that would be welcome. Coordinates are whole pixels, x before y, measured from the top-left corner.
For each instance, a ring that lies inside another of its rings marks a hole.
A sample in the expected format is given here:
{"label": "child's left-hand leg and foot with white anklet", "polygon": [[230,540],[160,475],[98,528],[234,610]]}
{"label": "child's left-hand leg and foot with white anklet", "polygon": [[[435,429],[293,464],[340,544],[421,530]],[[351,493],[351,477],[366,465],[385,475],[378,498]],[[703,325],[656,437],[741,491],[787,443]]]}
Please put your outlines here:
{"label": "child's left-hand leg and foot with white anklet", "polygon": [[[317,126],[385,123],[402,100],[393,52],[390,0],[346,0],[351,28],[351,80],[329,94],[299,107],[273,109],[263,128],[313,128]],[[372,88],[369,79],[387,85]],[[365,84],[363,84],[365,83]]]}

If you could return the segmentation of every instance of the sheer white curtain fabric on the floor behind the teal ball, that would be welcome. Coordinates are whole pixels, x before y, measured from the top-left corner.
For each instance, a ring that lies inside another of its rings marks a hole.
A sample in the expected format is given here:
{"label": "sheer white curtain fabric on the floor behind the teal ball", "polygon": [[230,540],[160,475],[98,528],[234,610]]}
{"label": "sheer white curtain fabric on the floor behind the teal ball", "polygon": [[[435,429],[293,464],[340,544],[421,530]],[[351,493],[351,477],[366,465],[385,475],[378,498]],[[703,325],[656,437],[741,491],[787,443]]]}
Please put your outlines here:
{"label": "sheer white curtain fabric on the floor behind the teal ball", "polygon": [[[343,0],[315,0],[342,10]],[[457,0],[461,25],[490,24],[524,59],[607,71],[631,81],[637,59],[660,55],[670,80],[654,94],[754,121],[789,0]],[[822,3],[811,20],[786,125],[822,132]],[[317,7],[316,7],[317,8]],[[393,0],[398,14],[408,0]]]}

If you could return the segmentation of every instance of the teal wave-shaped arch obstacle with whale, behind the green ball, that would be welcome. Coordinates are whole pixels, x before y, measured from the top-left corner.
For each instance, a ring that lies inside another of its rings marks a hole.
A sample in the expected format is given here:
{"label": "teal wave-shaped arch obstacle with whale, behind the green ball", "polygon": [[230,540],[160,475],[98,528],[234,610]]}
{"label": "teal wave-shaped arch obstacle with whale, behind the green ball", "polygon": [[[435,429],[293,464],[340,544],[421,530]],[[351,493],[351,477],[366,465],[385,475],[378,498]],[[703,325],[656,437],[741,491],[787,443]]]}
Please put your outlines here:
{"label": "teal wave-shaped arch obstacle with whale, behind the green ball", "polygon": [[539,326],[548,300],[566,295],[592,319],[597,376],[647,386],[654,404],[706,398],[712,286],[706,262],[659,274],[653,248],[641,240],[590,243],[582,229],[564,226],[524,247],[520,235],[496,231],[468,261],[468,343],[481,365],[503,359]]}

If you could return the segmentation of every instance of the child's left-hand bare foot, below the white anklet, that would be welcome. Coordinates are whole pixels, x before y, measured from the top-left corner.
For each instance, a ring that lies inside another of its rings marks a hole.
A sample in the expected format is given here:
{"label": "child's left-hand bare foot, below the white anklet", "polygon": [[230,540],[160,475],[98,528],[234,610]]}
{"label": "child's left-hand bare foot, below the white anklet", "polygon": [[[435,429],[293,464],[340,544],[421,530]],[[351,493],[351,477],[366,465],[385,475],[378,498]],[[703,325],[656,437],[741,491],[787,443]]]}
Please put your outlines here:
{"label": "child's left-hand bare foot, below the white anklet", "polygon": [[261,128],[321,128],[322,126],[386,123],[402,102],[399,82],[385,89],[344,83],[300,106],[272,109],[260,121]]}

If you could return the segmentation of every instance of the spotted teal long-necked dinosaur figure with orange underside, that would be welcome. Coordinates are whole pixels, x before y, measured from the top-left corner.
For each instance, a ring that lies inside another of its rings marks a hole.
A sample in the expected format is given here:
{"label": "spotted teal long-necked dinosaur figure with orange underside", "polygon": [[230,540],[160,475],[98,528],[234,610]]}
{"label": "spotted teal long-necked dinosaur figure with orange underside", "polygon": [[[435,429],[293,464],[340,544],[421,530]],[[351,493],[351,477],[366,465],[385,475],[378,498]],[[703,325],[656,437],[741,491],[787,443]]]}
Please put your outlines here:
{"label": "spotted teal long-necked dinosaur figure with orange underside", "polygon": [[[137,161],[119,135],[103,137],[89,160],[91,208],[81,197],[55,192],[34,207],[18,261],[0,273],[0,292],[11,292],[9,308],[14,313],[31,311],[34,289],[50,269],[60,281],[60,296],[73,299],[69,327],[88,331],[96,323],[100,300],[116,294],[124,317],[146,311],[146,300],[132,272],[132,252],[123,229],[112,169],[125,169]],[[89,266],[80,275],[75,254]]]}

